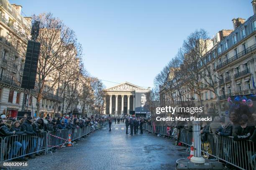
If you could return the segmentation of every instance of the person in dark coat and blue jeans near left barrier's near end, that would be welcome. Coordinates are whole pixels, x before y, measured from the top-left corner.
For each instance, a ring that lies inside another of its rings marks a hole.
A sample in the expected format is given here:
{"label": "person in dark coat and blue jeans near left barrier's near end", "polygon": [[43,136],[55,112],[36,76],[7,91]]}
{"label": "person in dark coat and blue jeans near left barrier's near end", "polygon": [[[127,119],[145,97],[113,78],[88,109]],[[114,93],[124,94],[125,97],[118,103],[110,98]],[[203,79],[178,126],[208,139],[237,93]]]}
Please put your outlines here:
{"label": "person in dark coat and blue jeans near left barrier's near end", "polygon": [[[15,122],[13,122],[12,127],[10,128],[10,131],[15,132],[15,135],[22,135],[24,132],[21,131],[21,127],[20,127],[20,122],[18,120],[16,120]],[[11,158],[15,158],[18,151],[20,150],[22,144],[21,142],[21,138],[20,136],[14,136],[10,141],[13,141],[13,143],[11,144],[11,149],[10,149],[10,153],[9,153],[9,159]],[[20,159],[16,159],[17,161],[25,161],[26,159],[24,158],[20,158]]]}

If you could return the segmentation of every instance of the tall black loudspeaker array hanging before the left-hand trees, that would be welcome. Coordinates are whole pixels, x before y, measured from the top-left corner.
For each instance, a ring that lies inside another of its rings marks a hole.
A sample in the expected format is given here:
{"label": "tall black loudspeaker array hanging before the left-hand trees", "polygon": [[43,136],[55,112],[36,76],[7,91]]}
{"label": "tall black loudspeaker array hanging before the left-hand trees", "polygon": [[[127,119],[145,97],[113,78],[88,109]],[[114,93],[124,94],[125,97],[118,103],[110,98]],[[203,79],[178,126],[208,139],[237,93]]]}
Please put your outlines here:
{"label": "tall black loudspeaker array hanging before the left-hand trees", "polygon": [[21,83],[22,88],[34,89],[35,87],[39,53],[40,42],[28,40],[26,60]]}

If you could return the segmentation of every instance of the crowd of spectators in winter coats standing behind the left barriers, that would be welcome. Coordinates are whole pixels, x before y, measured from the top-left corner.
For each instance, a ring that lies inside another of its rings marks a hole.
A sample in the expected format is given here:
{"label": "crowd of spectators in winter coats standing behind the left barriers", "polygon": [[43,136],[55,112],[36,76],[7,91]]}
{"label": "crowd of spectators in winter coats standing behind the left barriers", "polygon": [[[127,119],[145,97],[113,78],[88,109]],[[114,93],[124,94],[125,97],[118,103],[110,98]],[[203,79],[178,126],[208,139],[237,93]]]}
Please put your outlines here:
{"label": "crowd of spectators in winter coats standing behind the left barriers", "polygon": [[[25,114],[23,117],[6,117],[2,114],[0,116],[0,137],[3,139],[6,136],[11,136],[8,141],[4,141],[9,146],[4,146],[4,156],[6,160],[17,158],[18,161],[26,161],[28,158],[35,158],[40,156],[44,152],[42,146],[45,136],[38,135],[48,131],[57,130],[76,130],[77,128],[83,128],[90,126],[90,128],[97,128],[99,123],[105,122],[104,117],[94,118],[92,117],[31,117]],[[22,135],[26,134],[26,137]],[[28,138],[30,136],[31,138]],[[50,138],[53,139],[53,138]],[[72,141],[76,142],[76,140]],[[29,151],[28,151],[29,150]],[[56,147],[53,149],[55,152]],[[28,153],[35,153],[29,154]],[[26,157],[25,157],[26,155]]]}

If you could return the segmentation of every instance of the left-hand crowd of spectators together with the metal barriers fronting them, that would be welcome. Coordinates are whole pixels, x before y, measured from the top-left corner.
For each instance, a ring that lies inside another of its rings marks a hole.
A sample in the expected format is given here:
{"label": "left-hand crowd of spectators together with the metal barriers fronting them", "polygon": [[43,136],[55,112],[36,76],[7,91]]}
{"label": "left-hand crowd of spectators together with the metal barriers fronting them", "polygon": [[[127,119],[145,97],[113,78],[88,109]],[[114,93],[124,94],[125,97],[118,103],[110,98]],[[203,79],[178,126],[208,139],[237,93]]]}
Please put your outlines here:
{"label": "left-hand crowd of spectators together with the metal barriers fronting them", "polygon": [[66,147],[69,142],[83,140],[106,125],[106,119],[76,117],[46,117],[45,119],[25,115],[21,120],[0,118],[0,163],[5,161],[26,161],[28,158],[53,153]]}

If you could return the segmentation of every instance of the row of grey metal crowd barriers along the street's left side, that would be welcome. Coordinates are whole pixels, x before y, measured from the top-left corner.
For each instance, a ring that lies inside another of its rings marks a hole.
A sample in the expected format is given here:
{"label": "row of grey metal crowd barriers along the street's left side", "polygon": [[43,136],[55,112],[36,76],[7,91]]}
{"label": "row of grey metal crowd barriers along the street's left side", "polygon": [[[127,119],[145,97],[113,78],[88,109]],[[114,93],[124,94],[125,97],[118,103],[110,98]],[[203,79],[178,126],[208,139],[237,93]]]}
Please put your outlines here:
{"label": "row of grey metal crowd barriers along the street's left side", "polygon": [[80,138],[105,125],[106,122],[102,122],[93,128],[91,126],[84,126],[71,130],[63,129],[35,133],[33,135],[23,134],[0,137],[0,163],[24,158],[33,153],[52,153],[52,150],[68,143],[69,134],[72,136],[72,140],[80,140]]}

